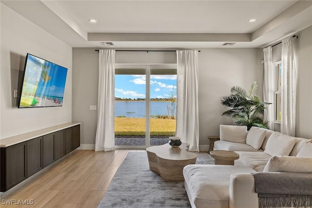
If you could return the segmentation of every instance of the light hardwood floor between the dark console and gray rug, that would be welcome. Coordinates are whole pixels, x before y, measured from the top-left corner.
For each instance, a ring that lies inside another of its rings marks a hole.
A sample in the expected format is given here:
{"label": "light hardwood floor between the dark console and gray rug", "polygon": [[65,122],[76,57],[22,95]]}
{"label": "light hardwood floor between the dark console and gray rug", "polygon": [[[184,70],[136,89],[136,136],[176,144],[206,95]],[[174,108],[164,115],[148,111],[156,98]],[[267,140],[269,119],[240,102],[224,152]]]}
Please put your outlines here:
{"label": "light hardwood floor between the dark console and gray rug", "polygon": [[[72,151],[14,188],[0,193],[0,207],[97,207],[128,151],[133,150]],[[14,204],[19,200],[28,200],[30,204],[33,200],[34,204],[4,205],[3,200],[16,200],[11,201]]]}

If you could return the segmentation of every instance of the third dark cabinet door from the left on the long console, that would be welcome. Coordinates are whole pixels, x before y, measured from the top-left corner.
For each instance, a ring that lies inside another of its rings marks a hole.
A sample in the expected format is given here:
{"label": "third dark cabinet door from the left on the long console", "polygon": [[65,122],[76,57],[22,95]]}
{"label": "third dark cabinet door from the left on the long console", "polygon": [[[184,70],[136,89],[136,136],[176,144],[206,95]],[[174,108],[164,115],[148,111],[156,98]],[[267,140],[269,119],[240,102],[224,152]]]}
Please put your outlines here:
{"label": "third dark cabinet door from the left on the long console", "polygon": [[43,151],[43,168],[47,167],[55,161],[54,152],[54,137],[55,133],[50,133],[43,136],[42,151]]}

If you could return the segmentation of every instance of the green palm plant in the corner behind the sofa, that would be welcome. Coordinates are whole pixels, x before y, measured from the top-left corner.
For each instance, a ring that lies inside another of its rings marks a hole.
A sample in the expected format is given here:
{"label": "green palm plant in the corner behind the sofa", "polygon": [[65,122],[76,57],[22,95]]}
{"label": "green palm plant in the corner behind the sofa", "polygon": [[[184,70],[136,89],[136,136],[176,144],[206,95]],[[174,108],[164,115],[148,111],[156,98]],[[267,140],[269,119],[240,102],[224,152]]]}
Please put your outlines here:
{"label": "green palm plant in the corner behind the sofa", "polygon": [[249,130],[252,126],[265,128],[268,122],[264,122],[262,115],[266,105],[271,103],[262,102],[258,95],[254,95],[257,89],[257,83],[253,82],[248,91],[245,89],[234,86],[231,88],[231,95],[223,96],[221,104],[231,108],[222,113],[236,120],[239,126],[247,126]]}

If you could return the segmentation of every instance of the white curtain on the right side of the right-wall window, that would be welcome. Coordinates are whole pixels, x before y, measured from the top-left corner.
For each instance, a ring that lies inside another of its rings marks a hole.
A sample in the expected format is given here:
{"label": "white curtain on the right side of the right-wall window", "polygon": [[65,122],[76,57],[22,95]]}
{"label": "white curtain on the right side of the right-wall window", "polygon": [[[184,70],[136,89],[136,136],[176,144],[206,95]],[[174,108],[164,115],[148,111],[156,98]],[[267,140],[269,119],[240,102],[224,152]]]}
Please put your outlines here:
{"label": "white curtain on the right side of the right-wall window", "polygon": [[295,136],[297,71],[292,37],[282,40],[281,133]]}

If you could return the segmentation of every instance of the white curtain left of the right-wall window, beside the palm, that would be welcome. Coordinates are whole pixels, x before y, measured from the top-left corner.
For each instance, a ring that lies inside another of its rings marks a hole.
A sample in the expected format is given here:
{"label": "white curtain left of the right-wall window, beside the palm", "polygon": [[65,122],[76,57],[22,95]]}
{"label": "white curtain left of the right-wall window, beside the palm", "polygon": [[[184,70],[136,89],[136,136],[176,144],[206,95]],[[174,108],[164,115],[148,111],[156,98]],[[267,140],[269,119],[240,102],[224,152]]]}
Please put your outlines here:
{"label": "white curtain left of the right-wall window, beside the palm", "polygon": [[274,131],[274,67],[272,61],[272,47],[263,49],[264,75],[263,75],[263,102],[272,103],[264,110],[263,120],[268,121],[268,128]]}

